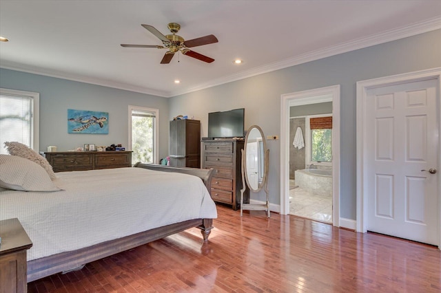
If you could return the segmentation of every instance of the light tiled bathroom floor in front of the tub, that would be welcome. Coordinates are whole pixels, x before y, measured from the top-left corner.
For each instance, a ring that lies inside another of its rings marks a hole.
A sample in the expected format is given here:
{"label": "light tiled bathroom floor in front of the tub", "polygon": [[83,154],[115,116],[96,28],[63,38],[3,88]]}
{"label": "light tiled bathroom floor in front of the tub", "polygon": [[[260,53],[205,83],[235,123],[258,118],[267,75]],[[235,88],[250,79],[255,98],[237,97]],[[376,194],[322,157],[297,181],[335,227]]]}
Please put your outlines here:
{"label": "light tiled bathroom floor in front of the tub", "polygon": [[[291,182],[294,187],[294,182]],[[332,224],[332,197],[314,195],[300,187],[289,190],[289,214]]]}

